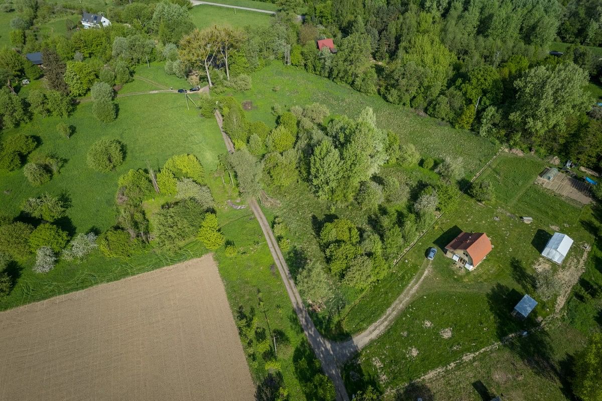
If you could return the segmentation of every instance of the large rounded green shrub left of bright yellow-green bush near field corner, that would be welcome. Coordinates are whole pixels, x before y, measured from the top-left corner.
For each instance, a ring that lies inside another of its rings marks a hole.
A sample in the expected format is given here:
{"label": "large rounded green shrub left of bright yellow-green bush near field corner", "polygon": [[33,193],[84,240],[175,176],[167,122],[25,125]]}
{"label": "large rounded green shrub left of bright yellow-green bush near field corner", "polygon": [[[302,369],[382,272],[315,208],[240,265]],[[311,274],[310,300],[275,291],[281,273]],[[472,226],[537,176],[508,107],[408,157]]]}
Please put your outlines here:
{"label": "large rounded green shrub left of bright yellow-green bush near field corner", "polygon": [[205,208],[194,199],[167,204],[154,215],[153,234],[157,244],[177,248],[179,242],[198,233],[204,217]]}

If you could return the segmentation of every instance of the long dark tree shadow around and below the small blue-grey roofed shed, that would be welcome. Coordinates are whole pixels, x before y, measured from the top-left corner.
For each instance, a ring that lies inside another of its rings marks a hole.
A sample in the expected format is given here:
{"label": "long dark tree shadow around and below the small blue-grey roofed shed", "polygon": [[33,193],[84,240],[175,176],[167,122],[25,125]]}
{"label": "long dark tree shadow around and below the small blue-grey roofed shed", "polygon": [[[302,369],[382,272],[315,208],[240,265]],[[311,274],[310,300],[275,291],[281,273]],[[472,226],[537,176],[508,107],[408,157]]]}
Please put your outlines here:
{"label": "long dark tree shadow around and below the small blue-grey roofed shed", "polygon": [[[523,295],[520,292],[499,283],[487,294],[489,310],[495,319],[497,338],[537,375],[548,379],[559,378],[560,372],[553,358],[550,335],[545,328],[538,327],[536,311],[526,320],[518,320],[510,314],[521,298]],[[527,331],[526,336],[518,334],[507,338],[509,334],[523,331]]]}

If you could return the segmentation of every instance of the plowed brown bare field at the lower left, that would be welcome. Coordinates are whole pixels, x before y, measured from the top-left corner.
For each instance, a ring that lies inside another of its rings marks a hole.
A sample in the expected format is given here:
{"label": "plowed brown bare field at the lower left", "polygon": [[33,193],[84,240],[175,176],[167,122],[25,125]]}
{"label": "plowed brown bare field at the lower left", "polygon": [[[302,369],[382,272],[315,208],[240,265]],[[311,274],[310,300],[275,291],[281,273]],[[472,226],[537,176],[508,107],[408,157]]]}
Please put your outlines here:
{"label": "plowed brown bare field at the lower left", "polygon": [[211,255],[0,313],[0,400],[252,400]]}

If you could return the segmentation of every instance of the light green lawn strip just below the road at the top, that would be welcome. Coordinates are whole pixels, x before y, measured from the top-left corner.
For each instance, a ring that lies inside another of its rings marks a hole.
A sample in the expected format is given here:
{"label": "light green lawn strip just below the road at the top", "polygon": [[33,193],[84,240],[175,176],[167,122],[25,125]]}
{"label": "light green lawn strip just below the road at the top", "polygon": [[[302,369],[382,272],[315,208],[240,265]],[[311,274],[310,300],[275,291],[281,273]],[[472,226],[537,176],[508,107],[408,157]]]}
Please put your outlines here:
{"label": "light green lawn strip just below the road at the top", "polygon": [[[245,6],[246,7],[246,6]],[[196,5],[190,10],[190,19],[197,28],[211,25],[231,25],[242,28],[247,25],[268,25],[272,16],[257,11],[236,10],[217,5]]]}

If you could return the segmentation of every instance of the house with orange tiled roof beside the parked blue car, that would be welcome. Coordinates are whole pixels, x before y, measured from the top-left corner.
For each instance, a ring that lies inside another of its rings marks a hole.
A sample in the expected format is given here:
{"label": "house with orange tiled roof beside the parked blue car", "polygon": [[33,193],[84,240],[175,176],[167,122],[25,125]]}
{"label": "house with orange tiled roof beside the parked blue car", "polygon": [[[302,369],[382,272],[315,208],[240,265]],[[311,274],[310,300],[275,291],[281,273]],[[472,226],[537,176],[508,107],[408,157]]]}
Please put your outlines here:
{"label": "house with orange tiled roof beside the parked blue car", "polygon": [[491,252],[491,241],[485,233],[462,231],[445,246],[445,256],[472,271]]}

